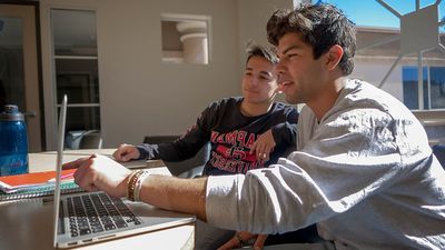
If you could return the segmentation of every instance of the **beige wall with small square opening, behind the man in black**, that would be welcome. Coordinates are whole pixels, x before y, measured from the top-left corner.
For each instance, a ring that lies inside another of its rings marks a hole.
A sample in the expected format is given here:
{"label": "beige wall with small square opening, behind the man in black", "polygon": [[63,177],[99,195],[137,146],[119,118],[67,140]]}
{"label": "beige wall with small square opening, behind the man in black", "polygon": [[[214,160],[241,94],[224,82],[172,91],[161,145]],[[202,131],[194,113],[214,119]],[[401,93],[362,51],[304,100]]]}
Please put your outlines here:
{"label": "beige wall with small square opening, behind the man in black", "polygon": [[[101,126],[107,148],[140,143],[146,134],[184,133],[211,100],[239,94],[236,0],[41,0],[49,148],[55,140],[48,18],[52,7],[97,11]],[[161,62],[160,14],[165,12],[211,17],[210,64]]]}

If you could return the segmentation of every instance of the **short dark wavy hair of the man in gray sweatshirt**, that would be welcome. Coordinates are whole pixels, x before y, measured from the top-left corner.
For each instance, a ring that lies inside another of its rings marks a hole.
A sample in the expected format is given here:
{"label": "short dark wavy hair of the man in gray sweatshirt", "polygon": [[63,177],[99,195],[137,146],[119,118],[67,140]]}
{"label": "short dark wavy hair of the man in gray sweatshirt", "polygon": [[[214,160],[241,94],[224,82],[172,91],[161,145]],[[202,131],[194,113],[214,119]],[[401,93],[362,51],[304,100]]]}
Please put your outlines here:
{"label": "short dark wavy hair of the man in gray sweatshirt", "polygon": [[267,22],[267,37],[270,43],[278,46],[286,33],[301,36],[304,42],[313,47],[314,59],[338,44],[344,54],[338,63],[343,74],[354,70],[356,49],[355,24],[342,10],[327,3],[300,4],[293,10],[277,10]]}

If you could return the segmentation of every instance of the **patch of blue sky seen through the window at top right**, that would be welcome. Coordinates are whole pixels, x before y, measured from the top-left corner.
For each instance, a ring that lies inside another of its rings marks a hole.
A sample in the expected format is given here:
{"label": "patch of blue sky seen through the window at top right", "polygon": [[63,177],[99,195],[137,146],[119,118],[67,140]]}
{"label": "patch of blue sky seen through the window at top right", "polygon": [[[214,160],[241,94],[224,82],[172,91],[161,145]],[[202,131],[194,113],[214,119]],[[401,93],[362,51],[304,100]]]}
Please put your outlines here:
{"label": "patch of blue sky seen through the window at top right", "polygon": [[[357,26],[399,28],[399,19],[376,0],[320,0],[340,8]],[[317,2],[317,0],[313,1]],[[416,0],[385,0],[402,16],[416,10]],[[436,0],[421,0],[421,8],[435,3]],[[439,18],[445,16],[445,0],[438,6]],[[438,20],[437,20],[438,21]],[[441,27],[442,31],[444,30]]]}

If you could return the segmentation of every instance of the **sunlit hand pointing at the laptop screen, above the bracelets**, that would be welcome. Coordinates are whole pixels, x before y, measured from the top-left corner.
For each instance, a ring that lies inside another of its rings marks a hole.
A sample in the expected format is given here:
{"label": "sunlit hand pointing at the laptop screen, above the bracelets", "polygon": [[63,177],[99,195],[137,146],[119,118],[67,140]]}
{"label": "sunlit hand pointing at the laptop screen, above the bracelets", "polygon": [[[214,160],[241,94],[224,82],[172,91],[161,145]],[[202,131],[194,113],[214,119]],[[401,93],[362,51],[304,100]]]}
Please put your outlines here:
{"label": "sunlit hand pointing at the laptop screen, above the bracelets", "polygon": [[131,170],[108,157],[92,154],[63,164],[63,169],[76,169],[75,182],[87,191],[105,191],[112,197],[127,194],[127,177]]}

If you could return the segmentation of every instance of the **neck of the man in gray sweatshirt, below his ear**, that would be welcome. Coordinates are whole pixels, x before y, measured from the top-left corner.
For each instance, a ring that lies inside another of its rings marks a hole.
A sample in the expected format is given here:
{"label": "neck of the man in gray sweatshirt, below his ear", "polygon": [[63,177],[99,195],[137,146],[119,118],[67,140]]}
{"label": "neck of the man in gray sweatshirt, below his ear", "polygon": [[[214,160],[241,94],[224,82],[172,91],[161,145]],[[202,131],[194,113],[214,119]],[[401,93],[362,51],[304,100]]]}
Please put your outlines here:
{"label": "neck of the man in gray sweatshirt, below his ear", "polygon": [[327,111],[334,107],[345,86],[345,80],[342,77],[330,81],[326,84],[325,90],[320,91],[320,94],[306,103],[314,111],[318,121],[322,121]]}

